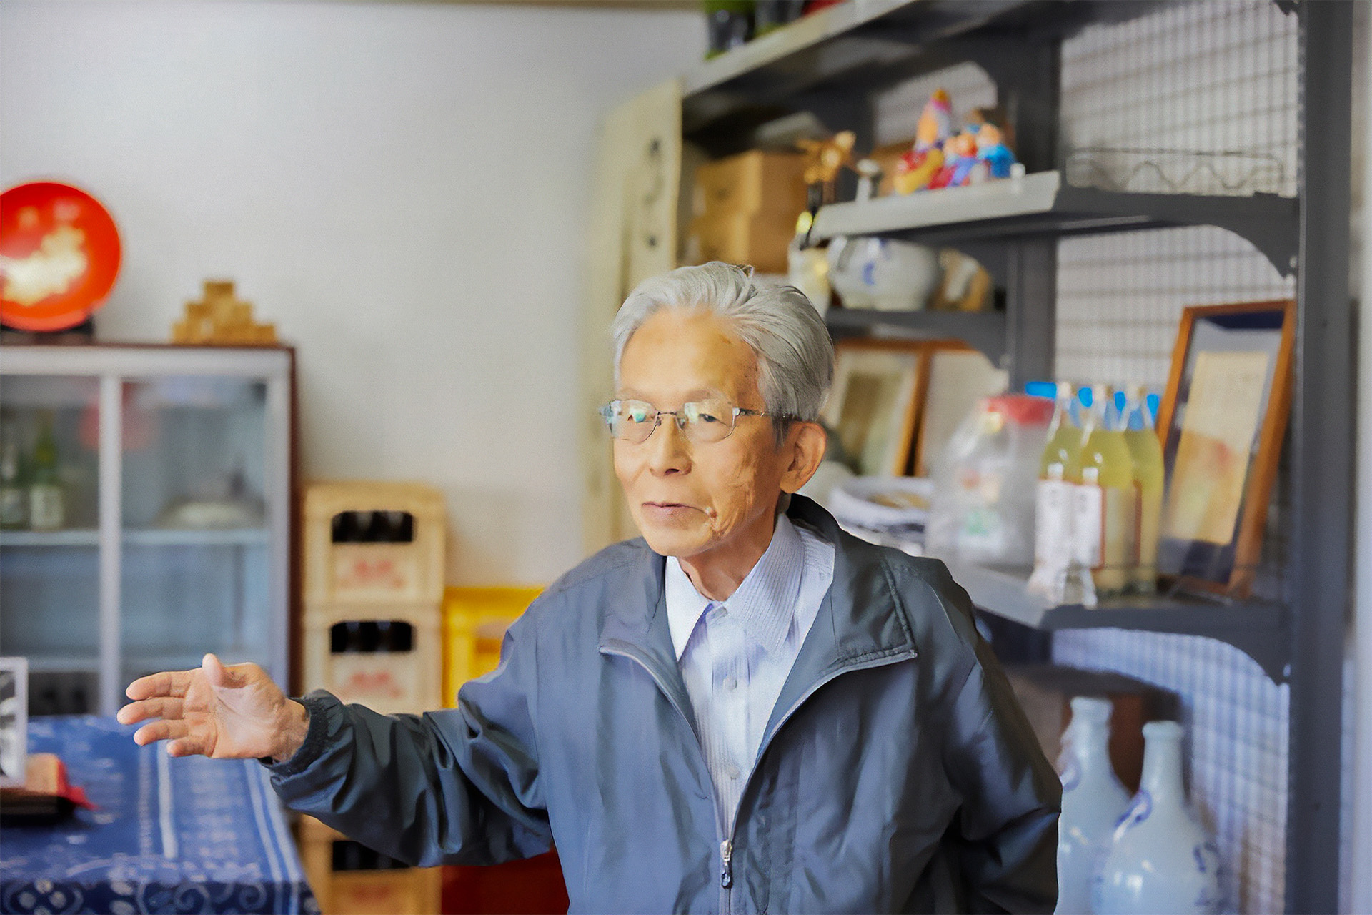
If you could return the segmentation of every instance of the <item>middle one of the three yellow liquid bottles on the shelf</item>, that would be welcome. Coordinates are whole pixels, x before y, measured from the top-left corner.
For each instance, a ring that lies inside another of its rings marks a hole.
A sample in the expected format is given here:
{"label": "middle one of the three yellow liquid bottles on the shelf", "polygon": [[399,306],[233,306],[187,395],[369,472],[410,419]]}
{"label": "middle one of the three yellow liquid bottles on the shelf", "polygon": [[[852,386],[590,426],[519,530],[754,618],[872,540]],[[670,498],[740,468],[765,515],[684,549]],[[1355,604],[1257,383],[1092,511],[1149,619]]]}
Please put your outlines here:
{"label": "middle one of the three yellow liquid bottles on the shelf", "polygon": [[1083,429],[1077,477],[1076,560],[1091,569],[1096,597],[1122,594],[1131,582],[1135,540],[1133,458],[1120,410],[1104,384],[1091,385],[1091,414]]}

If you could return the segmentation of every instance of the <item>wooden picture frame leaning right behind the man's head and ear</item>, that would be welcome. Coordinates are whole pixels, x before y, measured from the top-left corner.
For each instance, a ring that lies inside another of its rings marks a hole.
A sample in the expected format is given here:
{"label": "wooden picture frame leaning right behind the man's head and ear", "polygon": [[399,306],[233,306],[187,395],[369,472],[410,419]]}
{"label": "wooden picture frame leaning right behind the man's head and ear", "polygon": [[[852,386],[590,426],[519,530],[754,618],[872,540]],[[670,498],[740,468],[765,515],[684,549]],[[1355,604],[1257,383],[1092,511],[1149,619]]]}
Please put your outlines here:
{"label": "wooden picture frame leaning right behind the man's head and ear", "polygon": [[834,344],[822,420],[859,476],[906,476],[914,461],[930,355],[958,340],[856,337]]}

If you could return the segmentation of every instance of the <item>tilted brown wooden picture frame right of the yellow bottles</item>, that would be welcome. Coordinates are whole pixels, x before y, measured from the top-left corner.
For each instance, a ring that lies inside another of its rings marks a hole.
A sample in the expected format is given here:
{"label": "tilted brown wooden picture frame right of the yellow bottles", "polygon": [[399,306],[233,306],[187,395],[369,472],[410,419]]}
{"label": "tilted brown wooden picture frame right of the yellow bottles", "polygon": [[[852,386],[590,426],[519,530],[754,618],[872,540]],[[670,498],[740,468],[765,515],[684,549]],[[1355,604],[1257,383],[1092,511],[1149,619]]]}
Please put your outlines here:
{"label": "tilted brown wooden picture frame right of the yellow bottles", "polygon": [[1292,299],[1181,314],[1158,410],[1168,583],[1236,599],[1251,590],[1291,412],[1295,314]]}

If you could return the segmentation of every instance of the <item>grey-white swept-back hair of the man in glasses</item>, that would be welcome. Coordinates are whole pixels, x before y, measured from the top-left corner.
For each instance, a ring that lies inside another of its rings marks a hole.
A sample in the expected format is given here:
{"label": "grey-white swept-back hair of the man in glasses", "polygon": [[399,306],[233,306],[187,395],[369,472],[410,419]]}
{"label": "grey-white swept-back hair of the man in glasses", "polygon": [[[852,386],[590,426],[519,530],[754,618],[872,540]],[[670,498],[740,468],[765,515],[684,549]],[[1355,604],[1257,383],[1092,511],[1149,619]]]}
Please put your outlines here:
{"label": "grey-white swept-back hair of the man in glasses", "polygon": [[713,261],[678,268],[639,283],[611,324],[615,384],[634,332],[667,307],[707,309],[723,318],[757,355],[761,394],[778,439],[785,420],[814,423],[834,380],[834,343],[823,318],[790,285],[757,287],[752,268]]}

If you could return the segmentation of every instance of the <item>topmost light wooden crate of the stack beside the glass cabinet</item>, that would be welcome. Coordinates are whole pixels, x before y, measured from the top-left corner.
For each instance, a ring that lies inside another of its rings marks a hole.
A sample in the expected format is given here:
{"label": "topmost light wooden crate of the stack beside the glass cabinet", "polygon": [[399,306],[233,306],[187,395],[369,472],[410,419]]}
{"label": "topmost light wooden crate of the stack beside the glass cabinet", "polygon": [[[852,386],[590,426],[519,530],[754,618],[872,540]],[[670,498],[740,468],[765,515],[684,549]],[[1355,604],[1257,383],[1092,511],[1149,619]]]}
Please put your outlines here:
{"label": "topmost light wooden crate of the stack beside the glass cabinet", "polygon": [[[370,517],[379,512],[407,513],[413,517],[413,539],[335,542],[335,519],[348,512]],[[443,599],[446,524],[443,495],[428,486],[377,480],[311,483],[305,490],[303,519],[306,602],[438,606]]]}

